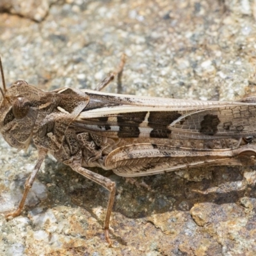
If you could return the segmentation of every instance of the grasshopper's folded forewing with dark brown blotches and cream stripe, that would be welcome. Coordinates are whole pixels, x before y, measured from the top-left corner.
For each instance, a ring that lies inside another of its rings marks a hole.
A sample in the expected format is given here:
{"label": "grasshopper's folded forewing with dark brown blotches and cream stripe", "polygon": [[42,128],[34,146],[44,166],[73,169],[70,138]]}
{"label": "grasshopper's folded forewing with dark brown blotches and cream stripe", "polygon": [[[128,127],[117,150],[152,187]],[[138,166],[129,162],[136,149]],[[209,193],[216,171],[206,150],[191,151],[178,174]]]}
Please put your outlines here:
{"label": "grasshopper's folded forewing with dark brown blotches and cream stripe", "polygon": [[92,93],[72,125],[109,138],[212,139],[256,134],[253,103],[145,99]]}

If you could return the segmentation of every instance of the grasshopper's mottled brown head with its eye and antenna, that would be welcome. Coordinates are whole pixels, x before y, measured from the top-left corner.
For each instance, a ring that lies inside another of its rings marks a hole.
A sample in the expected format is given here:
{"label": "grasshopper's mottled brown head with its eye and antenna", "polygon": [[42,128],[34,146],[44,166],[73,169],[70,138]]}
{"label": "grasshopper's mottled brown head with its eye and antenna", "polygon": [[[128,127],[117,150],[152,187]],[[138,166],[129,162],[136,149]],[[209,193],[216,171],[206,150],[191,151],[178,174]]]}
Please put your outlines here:
{"label": "grasshopper's mottled brown head with its eye and antenna", "polygon": [[38,114],[40,90],[22,80],[6,89],[1,62],[0,68],[3,81],[3,89],[0,88],[0,132],[10,146],[26,149]]}

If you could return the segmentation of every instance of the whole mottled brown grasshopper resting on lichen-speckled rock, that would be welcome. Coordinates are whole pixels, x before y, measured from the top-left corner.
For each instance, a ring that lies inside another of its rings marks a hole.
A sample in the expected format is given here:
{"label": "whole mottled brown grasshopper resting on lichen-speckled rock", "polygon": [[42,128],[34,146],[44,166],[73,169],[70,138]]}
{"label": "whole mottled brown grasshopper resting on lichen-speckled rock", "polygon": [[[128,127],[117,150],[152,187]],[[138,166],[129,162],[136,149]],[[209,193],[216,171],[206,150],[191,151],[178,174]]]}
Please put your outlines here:
{"label": "whole mottled brown grasshopper resting on lichen-speckled rock", "polygon": [[[135,177],[209,165],[254,165],[255,97],[240,102],[136,97],[60,88],[43,92],[26,81],[3,89],[0,131],[11,147],[31,140],[38,161],[26,180],[18,216],[47,153],[109,191],[104,221],[106,241],[115,199],[115,182],[84,167],[99,166]],[[106,86],[118,70],[99,84]]]}

